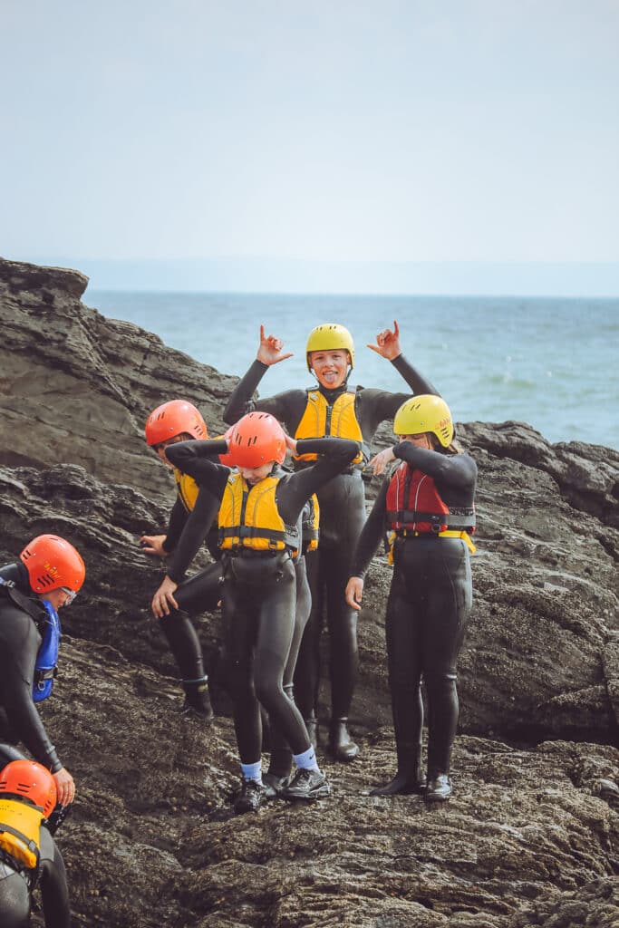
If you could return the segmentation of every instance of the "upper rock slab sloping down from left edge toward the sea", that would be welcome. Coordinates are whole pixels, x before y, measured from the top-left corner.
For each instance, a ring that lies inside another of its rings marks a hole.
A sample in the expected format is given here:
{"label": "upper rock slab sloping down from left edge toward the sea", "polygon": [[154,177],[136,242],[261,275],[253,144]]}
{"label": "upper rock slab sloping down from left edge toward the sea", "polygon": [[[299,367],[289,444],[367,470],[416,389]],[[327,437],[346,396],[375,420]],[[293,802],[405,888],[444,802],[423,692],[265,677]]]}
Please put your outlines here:
{"label": "upper rock slab sloping down from left edge toward the sea", "polygon": [[232,380],[84,306],[86,284],[77,271],[0,260],[0,463],[71,461],[102,480],[166,492],[159,461],[145,454],[148,413],[187,398],[220,434]]}

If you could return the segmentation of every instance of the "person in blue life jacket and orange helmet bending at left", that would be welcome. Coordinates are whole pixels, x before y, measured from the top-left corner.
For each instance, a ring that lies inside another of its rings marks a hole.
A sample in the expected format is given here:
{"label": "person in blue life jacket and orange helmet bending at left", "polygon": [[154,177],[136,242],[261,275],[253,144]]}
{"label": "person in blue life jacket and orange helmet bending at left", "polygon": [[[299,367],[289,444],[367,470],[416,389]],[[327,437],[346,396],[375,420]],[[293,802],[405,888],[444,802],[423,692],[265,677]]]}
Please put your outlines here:
{"label": "person in blue life jacket and orange helmet bending at left", "polygon": [[[75,784],[47,737],[34,700],[51,691],[58,610],[71,603],[84,577],[79,552],[58,535],[38,535],[18,562],[0,567],[0,737],[22,741],[51,770],[63,806],[73,801]],[[47,659],[42,662],[44,652]]]}

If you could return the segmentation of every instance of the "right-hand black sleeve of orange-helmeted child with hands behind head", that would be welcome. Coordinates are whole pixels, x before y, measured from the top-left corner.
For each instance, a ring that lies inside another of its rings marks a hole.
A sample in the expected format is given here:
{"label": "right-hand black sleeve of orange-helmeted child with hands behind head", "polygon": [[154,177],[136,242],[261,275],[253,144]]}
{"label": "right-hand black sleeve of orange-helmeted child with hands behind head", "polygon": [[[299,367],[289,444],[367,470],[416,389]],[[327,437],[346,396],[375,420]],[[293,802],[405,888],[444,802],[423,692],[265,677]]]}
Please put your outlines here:
{"label": "right-hand black sleeve of orange-helmeted child with hands behind head", "polygon": [[286,483],[277,496],[277,506],[284,521],[289,524],[296,522],[305,501],[352,463],[358,453],[358,442],[348,438],[299,439],[297,454],[314,454],[321,457],[316,464],[304,470],[297,470],[286,478]]}

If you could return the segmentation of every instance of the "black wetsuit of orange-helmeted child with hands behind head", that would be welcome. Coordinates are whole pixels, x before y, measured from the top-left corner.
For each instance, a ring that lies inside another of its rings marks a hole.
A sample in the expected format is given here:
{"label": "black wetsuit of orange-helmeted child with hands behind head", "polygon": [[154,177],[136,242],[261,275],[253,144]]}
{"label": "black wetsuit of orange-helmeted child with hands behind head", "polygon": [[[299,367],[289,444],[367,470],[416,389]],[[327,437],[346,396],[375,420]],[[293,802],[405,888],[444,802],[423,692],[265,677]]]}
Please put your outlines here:
{"label": "black wetsuit of orange-helmeted child with hands behind head", "polygon": [[[350,464],[359,445],[346,439],[308,439],[300,441],[298,449],[300,454],[323,457],[313,467],[284,474],[277,484],[277,511],[290,526],[299,522],[309,496]],[[226,450],[226,442],[192,441],[170,445],[166,454],[175,467],[221,499],[230,470],[210,457]],[[290,552],[225,551],[224,565],[223,659],[241,763],[255,763],[262,754],[260,703],[276,722],[292,754],[303,754],[310,746],[303,717],[283,690],[294,638],[297,593]]]}

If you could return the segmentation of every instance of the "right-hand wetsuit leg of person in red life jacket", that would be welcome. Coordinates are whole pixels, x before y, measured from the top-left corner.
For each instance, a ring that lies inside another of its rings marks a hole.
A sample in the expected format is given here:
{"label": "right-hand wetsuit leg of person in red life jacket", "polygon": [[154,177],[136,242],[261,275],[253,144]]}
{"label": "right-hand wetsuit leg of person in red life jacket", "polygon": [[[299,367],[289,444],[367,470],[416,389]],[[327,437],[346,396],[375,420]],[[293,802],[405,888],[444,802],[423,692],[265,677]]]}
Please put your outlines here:
{"label": "right-hand wetsuit leg of person in red life jacket", "polygon": [[428,696],[428,772],[448,773],[458,728],[456,664],[471,615],[469,551],[459,538],[437,539],[427,561],[423,668]]}

